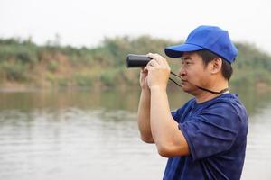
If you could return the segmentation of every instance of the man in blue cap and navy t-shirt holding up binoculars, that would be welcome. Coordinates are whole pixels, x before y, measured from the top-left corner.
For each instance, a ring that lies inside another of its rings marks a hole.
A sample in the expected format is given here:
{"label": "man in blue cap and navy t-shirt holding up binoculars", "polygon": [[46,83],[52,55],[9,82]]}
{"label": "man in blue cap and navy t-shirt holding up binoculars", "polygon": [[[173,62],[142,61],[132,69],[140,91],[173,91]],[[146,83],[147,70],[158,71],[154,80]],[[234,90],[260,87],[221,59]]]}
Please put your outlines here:
{"label": "man in blue cap and navy t-shirt holding up binoculars", "polygon": [[165,58],[148,54],[141,71],[138,107],[141,139],[155,143],[169,157],[164,180],[240,179],[244,164],[248,115],[228,85],[238,50],[228,31],[200,26],[165,54],[182,58],[182,90],[194,98],[170,112],[166,94],[170,67]]}

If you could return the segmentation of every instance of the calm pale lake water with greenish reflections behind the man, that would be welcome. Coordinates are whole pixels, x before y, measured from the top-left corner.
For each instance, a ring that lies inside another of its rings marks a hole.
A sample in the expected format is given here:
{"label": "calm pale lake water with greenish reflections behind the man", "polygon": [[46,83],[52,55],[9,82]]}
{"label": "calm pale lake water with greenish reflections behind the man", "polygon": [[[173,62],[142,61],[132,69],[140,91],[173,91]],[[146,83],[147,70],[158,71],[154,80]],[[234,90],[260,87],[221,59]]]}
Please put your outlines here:
{"label": "calm pale lake water with greenish reflections behind the man", "polygon": [[[233,89],[249,113],[242,179],[271,179],[271,95]],[[172,110],[191,96],[169,91]],[[162,179],[166,158],[139,139],[139,90],[0,93],[0,179]]]}

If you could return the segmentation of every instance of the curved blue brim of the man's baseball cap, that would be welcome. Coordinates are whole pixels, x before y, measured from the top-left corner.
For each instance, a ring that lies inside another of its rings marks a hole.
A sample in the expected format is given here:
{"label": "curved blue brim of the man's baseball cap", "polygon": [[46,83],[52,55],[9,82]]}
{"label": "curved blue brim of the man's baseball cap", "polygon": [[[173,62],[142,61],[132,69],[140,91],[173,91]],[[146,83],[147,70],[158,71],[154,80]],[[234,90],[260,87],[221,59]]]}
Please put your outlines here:
{"label": "curved blue brim of the man's baseball cap", "polygon": [[183,52],[191,52],[195,50],[203,49],[200,46],[196,46],[193,44],[181,44],[176,46],[169,46],[164,49],[164,53],[166,56],[170,58],[180,58],[182,57]]}

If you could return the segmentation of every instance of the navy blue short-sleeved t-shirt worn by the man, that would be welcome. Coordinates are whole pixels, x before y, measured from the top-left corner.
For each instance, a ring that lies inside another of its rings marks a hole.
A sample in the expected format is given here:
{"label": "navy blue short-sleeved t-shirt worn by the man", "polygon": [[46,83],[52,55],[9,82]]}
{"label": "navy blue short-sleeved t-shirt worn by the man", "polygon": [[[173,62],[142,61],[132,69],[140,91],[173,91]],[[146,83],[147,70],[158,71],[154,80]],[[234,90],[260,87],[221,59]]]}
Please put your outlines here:
{"label": "navy blue short-sleeved t-shirt worn by the man", "polygon": [[248,114],[237,94],[221,94],[204,103],[193,98],[172,115],[190,155],[169,158],[164,180],[240,179]]}

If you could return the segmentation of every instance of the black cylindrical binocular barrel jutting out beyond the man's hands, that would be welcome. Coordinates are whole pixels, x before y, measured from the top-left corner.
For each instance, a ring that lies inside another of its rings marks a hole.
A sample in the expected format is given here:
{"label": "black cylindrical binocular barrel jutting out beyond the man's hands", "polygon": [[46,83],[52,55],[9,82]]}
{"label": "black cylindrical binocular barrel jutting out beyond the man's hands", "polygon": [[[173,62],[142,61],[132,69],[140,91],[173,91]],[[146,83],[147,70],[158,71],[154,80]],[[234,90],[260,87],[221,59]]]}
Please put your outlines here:
{"label": "black cylindrical binocular barrel jutting out beyond the man's hands", "polygon": [[152,58],[146,55],[128,54],[126,57],[126,66],[130,67],[145,67]]}

